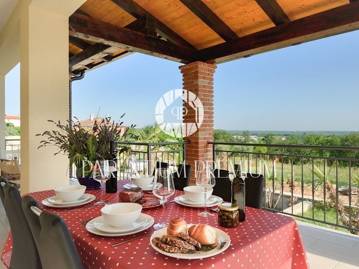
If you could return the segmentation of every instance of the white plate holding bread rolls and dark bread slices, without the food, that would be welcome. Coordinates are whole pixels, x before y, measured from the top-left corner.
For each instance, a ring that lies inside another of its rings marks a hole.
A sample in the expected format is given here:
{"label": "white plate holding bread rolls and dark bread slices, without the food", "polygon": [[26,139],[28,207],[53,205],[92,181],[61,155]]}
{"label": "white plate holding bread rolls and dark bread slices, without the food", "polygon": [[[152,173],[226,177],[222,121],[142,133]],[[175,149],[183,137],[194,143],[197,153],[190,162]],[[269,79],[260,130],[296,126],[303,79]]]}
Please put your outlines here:
{"label": "white plate holding bread rolls and dark bread slices, without the food", "polygon": [[[188,224],[188,227],[191,227],[192,225],[193,224]],[[159,253],[162,253],[163,255],[173,257],[173,258],[178,258],[178,259],[193,260],[193,259],[203,259],[203,258],[212,257],[214,255],[222,253],[223,251],[228,249],[228,247],[230,245],[230,238],[227,235],[227,233],[225,233],[224,231],[222,231],[218,228],[214,228],[214,229],[216,230],[216,241],[220,240],[221,242],[226,242],[226,244],[222,247],[222,249],[220,249],[219,247],[216,247],[215,249],[210,250],[210,251],[195,251],[195,253],[187,253],[187,254],[165,252],[163,250],[160,250],[158,247],[154,246],[152,244],[152,239],[154,237],[161,237],[163,235],[167,235],[167,228],[162,228],[161,230],[158,230],[158,231],[154,232],[153,235],[151,235],[151,238],[150,238],[151,247],[153,247],[153,249],[155,251],[158,251]]]}

